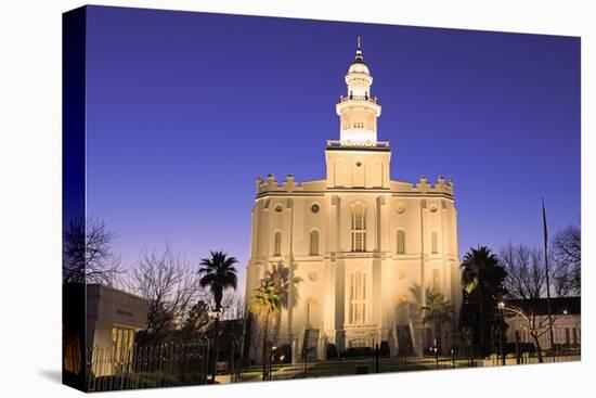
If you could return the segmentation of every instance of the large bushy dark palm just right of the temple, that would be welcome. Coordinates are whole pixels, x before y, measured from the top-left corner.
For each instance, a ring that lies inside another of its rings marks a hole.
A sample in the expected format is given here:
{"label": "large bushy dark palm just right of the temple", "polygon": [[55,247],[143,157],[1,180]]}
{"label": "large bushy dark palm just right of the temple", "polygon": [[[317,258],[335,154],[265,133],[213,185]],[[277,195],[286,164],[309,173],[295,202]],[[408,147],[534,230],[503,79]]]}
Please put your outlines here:
{"label": "large bushy dark palm just right of the temple", "polygon": [[[504,295],[503,281],[507,272],[498,264],[498,257],[491,249],[482,246],[470,248],[464,256],[462,267],[462,283],[464,293],[478,303],[480,323],[480,347],[484,349],[487,330],[487,308],[496,307],[493,301]],[[492,319],[493,317],[491,317]]]}

